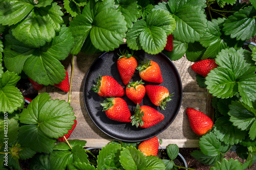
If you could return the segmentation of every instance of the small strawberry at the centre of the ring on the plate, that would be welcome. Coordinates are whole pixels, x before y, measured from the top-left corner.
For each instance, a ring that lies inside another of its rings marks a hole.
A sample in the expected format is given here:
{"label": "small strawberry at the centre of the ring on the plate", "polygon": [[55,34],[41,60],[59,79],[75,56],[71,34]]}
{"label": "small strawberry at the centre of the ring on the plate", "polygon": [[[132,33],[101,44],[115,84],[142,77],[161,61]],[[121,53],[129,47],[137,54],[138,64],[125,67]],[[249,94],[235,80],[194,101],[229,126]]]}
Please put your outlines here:
{"label": "small strawberry at the centre of the ring on the plate", "polygon": [[146,93],[145,87],[143,86],[142,80],[131,82],[125,88],[125,94],[135,104],[141,104],[142,99]]}

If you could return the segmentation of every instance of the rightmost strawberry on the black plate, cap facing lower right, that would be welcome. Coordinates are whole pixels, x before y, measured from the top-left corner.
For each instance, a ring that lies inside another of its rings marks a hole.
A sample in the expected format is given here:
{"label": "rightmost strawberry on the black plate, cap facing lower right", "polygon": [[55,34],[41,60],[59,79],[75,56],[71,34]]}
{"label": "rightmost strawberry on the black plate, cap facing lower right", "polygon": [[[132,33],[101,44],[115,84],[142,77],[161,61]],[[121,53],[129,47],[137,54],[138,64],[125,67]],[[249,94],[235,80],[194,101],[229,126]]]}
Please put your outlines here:
{"label": "rightmost strawberry on the black plate, cap facing lower right", "polygon": [[168,89],[164,86],[146,85],[145,88],[146,94],[148,95],[148,98],[150,98],[151,102],[165,110],[166,102],[172,100],[170,97],[173,96],[173,94],[169,94]]}

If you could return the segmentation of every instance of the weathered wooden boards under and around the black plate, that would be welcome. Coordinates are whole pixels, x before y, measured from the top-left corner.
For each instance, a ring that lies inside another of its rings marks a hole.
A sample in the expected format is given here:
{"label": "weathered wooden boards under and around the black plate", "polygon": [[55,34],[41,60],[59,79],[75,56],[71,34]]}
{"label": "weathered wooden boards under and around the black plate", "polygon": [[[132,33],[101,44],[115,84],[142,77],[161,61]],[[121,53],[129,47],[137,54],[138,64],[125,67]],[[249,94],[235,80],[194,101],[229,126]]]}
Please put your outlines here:
{"label": "weathered wooden boards under and around the black plate", "polygon": [[[104,147],[113,138],[109,137],[101,130],[99,130],[90,119],[83,102],[83,82],[86,78],[88,69],[93,61],[99,56],[78,54],[74,61],[74,74],[71,89],[71,107],[77,117],[77,126],[71,134],[70,139],[86,140],[86,147]],[[166,147],[170,143],[177,144],[180,148],[198,147],[199,137],[189,126],[188,117],[186,115],[186,108],[193,107],[202,111],[206,115],[213,117],[210,109],[210,95],[208,95],[205,88],[197,85],[196,73],[191,70],[191,65],[194,62],[188,61],[185,56],[180,60],[173,61],[177,67],[183,87],[183,99],[180,111],[176,116],[174,122],[157,137],[162,139],[161,147]],[[72,58],[69,56],[65,61],[62,61],[69,72],[71,78],[71,64]],[[59,99],[68,101],[69,93],[65,93],[53,86],[44,87],[39,93],[47,92],[52,99]]]}

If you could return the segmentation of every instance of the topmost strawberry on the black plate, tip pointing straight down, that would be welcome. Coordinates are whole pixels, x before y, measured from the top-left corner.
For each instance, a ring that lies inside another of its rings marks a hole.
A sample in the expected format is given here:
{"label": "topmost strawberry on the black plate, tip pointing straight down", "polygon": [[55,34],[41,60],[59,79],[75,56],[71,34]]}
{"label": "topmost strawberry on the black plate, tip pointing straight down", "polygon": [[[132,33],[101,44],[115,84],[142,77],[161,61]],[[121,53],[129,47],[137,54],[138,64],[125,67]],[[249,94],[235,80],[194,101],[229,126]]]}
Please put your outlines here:
{"label": "topmost strawberry on the black plate, tip pointing straight down", "polygon": [[127,50],[125,53],[123,51],[117,60],[117,69],[124,85],[127,85],[130,82],[134,75],[136,67],[138,66],[138,62],[133,56],[133,53],[128,53],[129,52]]}

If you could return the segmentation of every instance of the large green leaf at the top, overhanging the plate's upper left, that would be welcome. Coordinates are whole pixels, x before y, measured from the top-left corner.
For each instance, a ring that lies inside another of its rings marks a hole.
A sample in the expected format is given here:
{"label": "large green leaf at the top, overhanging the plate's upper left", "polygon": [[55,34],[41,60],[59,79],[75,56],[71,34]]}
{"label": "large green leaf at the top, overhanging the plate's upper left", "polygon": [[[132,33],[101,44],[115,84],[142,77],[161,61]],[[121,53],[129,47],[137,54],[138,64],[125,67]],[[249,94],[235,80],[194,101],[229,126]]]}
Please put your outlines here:
{"label": "large green leaf at the top, overhanging the plate's upper left", "polygon": [[100,51],[113,51],[123,43],[127,31],[126,21],[121,12],[113,9],[113,6],[114,0],[104,2],[90,0],[82,14],[77,15],[70,22],[69,28],[75,38],[72,54],[79,53],[88,37]]}

